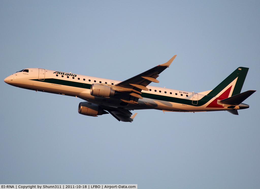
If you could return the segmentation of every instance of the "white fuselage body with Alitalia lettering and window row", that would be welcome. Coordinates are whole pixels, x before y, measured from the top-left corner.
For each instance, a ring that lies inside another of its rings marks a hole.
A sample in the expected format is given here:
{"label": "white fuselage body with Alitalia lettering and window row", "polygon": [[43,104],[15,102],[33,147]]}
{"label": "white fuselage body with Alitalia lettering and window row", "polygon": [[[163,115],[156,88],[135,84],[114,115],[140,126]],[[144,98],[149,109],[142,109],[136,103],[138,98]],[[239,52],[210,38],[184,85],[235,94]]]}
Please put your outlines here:
{"label": "white fuselage body with Alitalia lettering and window row", "polygon": [[[17,72],[5,78],[5,82],[16,87],[79,97],[88,102],[128,110],[158,109],[174,112],[203,112],[228,110],[227,106],[207,107],[216,97],[206,98],[206,94],[197,94],[181,90],[147,86],[148,91],[142,90],[143,99],[138,103],[127,102],[122,105],[118,97],[96,97],[90,95],[90,85],[102,83],[116,89],[117,80],[71,74],[47,69],[28,68],[28,72]],[[205,99],[205,102],[203,100]],[[198,102],[201,102],[198,103]],[[120,104],[121,103],[121,104]],[[238,106],[235,107],[239,109]]]}

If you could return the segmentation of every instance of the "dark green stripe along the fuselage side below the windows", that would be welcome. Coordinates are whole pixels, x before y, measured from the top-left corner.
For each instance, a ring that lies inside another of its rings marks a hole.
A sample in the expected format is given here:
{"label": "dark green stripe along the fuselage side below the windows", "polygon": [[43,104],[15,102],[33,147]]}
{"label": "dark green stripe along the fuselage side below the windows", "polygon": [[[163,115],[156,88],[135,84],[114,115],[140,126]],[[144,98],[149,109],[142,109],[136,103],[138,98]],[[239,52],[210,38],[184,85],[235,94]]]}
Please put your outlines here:
{"label": "dark green stripe along the fuselage side below the windows", "polygon": [[[45,83],[66,85],[66,86],[70,86],[70,87],[78,87],[78,88],[83,88],[83,89],[90,89],[90,86],[91,86],[91,84],[88,84],[88,83],[66,81],[66,80],[54,79],[54,78],[45,79],[45,80],[38,80],[38,79],[32,79],[32,80],[45,82]],[[144,98],[148,98],[148,99],[162,100],[162,101],[180,103],[180,104],[185,104],[185,105],[190,105],[190,106],[202,106],[213,98],[212,96],[204,96],[202,99],[200,99],[198,101],[197,105],[194,105],[194,104],[192,104],[192,100],[181,99],[181,98],[177,98],[177,97],[163,96],[163,95],[150,94],[150,93],[142,93],[141,96]]]}

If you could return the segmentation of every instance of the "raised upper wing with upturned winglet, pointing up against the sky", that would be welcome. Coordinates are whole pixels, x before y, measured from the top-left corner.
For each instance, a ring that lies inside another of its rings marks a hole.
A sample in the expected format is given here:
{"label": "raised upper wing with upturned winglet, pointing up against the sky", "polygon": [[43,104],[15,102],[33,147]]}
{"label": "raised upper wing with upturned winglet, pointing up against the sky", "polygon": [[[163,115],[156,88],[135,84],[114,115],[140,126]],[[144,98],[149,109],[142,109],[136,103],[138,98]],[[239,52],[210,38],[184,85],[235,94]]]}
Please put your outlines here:
{"label": "raised upper wing with upturned winglet, pointing up against the sky", "polygon": [[129,89],[131,92],[129,92],[130,98],[128,100],[137,103],[139,98],[142,99],[141,91],[149,90],[146,86],[151,82],[159,83],[157,80],[157,77],[159,76],[158,74],[168,68],[176,56],[177,55],[174,55],[168,62],[164,64],[155,66],[154,68],[149,69],[139,75],[117,83],[115,87],[120,87],[125,90]]}

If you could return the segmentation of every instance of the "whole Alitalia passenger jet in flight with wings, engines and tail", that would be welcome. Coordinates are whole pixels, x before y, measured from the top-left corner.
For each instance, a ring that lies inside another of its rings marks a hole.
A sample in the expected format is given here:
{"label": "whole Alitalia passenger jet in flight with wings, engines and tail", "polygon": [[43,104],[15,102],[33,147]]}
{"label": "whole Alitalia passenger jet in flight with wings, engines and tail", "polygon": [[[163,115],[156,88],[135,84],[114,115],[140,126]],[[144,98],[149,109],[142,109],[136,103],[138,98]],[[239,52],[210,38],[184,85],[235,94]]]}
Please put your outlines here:
{"label": "whole Alitalia passenger jet in flight with wings, engines and tail", "polygon": [[94,116],[110,113],[118,121],[132,122],[131,110],[157,109],[163,112],[208,112],[226,110],[238,115],[242,103],[255,90],[240,93],[249,68],[239,67],[213,90],[194,93],[150,86],[159,83],[158,74],[170,66],[168,62],[153,67],[125,81],[72,74],[41,68],[27,68],[4,79],[15,87],[74,96],[83,99],[78,112]]}

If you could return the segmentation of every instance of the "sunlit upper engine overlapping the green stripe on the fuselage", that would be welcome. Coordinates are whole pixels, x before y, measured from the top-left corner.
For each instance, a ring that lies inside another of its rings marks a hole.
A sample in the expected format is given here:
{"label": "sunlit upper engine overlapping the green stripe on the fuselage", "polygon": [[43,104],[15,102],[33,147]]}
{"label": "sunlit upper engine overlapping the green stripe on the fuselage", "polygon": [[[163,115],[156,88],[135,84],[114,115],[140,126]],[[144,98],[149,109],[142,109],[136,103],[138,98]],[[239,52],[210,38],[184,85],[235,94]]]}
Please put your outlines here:
{"label": "sunlit upper engine overlapping the green stripe on the fuselage", "polygon": [[107,85],[95,83],[90,87],[90,94],[92,96],[111,97],[115,95],[115,90]]}

